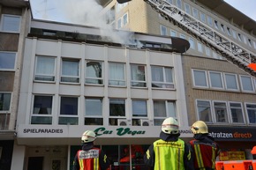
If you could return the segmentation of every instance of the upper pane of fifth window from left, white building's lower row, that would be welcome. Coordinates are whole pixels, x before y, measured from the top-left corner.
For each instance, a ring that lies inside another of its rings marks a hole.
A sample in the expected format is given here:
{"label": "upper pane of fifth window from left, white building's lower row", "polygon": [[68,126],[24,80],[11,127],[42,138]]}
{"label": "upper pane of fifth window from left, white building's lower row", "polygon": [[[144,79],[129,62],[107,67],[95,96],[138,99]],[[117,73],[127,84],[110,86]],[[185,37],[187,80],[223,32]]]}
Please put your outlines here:
{"label": "upper pane of fifth window from left, white building's lower row", "polygon": [[132,116],[147,117],[147,100],[132,100]]}

